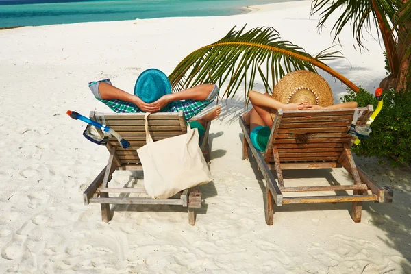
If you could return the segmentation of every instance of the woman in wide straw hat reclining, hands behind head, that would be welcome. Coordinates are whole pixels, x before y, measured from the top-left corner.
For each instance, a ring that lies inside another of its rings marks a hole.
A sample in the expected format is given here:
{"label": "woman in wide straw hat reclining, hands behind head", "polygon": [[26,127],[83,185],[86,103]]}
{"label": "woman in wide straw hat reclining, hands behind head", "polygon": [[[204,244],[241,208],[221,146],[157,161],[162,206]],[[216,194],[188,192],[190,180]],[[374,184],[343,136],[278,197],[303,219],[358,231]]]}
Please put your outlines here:
{"label": "woman in wide straw hat reclining, hands behind head", "polygon": [[273,95],[250,90],[249,99],[253,108],[242,114],[250,127],[250,138],[254,147],[265,151],[275,111],[282,110],[336,110],[357,108],[357,102],[334,105],[332,90],[323,77],[311,71],[293,71],[279,80]]}

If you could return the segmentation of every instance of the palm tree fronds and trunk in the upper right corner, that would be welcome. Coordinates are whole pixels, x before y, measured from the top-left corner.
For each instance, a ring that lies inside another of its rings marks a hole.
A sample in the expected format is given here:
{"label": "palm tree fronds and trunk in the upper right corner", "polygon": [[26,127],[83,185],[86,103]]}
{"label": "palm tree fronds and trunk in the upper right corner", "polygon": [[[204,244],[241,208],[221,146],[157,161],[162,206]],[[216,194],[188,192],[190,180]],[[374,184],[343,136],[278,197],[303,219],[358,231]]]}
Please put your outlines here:
{"label": "palm tree fronds and trunk in the upper right corner", "polygon": [[[342,10],[343,12],[340,12]],[[374,24],[380,30],[393,78],[411,73],[411,1],[410,0],[314,0],[312,14],[320,12],[319,27],[334,12],[340,12],[332,32],[338,38],[343,28],[352,27],[353,38],[364,49],[363,34]],[[378,34],[379,35],[379,34]],[[408,82],[410,79],[400,79]]]}

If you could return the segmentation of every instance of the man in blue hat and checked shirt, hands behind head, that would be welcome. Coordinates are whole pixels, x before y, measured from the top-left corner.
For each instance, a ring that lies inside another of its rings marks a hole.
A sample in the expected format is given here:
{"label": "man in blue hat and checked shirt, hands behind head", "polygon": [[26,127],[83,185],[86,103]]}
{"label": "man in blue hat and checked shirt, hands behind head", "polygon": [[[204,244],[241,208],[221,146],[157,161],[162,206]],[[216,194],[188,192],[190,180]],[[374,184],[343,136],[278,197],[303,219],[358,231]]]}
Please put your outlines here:
{"label": "man in blue hat and checked shirt, hands behind head", "polygon": [[[110,79],[88,83],[96,99],[108,105],[114,112],[184,112],[186,120],[201,112],[219,94],[216,84],[201,84],[180,92],[171,92],[169,78],[158,69],[143,71],[134,86],[134,95],[112,86]],[[184,101],[182,101],[184,100]],[[198,119],[202,127],[216,119],[221,112],[217,106]],[[190,123],[191,124],[191,123]],[[197,127],[191,124],[192,127]],[[199,128],[201,135],[203,130]]]}

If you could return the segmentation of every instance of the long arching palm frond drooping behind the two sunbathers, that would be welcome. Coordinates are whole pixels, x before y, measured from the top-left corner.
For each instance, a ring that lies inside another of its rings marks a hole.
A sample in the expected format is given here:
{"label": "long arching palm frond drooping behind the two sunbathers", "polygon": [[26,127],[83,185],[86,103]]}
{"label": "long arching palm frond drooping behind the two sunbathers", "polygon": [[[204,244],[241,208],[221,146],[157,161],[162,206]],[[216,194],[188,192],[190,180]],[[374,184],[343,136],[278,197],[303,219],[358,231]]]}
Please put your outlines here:
{"label": "long arching palm frond drooping behind the two sunbathers", "polygon": [[358,91],[356,85],[323,63],[340,57],[340,51],[329,49],[312,57],[297,45],[282,40],[272,27],[245,32],[244,26],[240,31],[233,28],[221,40],[192,52],[176,66],[169,79],[173,92],[208,82],[221,86],[227,80],[223,96],[232,97],[242,82],[247,92],[251,90],[257,73],[266,92],[271,92],[286,73],[298,69],[315,72],[319,67]]}

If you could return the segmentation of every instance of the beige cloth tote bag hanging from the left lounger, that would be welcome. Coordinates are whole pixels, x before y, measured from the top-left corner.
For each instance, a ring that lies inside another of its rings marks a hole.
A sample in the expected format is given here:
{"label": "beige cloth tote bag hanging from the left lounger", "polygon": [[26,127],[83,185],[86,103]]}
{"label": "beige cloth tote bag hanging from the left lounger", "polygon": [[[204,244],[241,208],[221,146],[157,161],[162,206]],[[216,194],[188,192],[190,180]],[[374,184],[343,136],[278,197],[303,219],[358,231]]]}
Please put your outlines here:
{"label": "beige cloth tote bag hanging from the left lounger", "polygon": [[187,133],[153,142],[145,114],[147,144],[137,149],[144,172],[144,186],[154,199],[169,198],[181,190],[212,180],[199,147],[199,133],[188,125]]}

